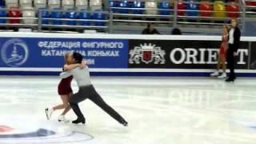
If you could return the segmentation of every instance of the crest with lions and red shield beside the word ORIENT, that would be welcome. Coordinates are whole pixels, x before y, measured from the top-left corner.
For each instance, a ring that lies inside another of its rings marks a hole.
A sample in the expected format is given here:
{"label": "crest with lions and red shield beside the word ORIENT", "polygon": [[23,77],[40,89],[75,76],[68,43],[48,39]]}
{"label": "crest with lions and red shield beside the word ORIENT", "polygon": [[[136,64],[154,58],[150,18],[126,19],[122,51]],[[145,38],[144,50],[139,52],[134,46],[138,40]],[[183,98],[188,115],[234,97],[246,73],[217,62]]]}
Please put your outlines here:
{"label": "crest with lions and red shield beside the word ORIENT", "polygon": [[130,50],[130,64],[140,64],[144,62],[149,64],[150,62],[154,62],[154,64],[165,64],[165,54],[166,52],[161,49],[160,46],[156,46],[154,44],[141,44],[140,46],[135,46],[134,50]]}

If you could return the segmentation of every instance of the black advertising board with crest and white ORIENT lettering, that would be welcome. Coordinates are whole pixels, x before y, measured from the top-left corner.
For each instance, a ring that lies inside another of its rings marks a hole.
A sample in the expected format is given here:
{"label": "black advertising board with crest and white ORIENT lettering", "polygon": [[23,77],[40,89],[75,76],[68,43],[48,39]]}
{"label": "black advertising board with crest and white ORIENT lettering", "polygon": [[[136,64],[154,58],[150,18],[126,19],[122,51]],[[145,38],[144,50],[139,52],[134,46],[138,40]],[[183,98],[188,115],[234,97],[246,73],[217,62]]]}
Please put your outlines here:
{"label": "black advertising board with crest and white ORIENT lettering", "polygon": [[[130,68],[214,69],[217,64],[218,41],[130,40]],[[237,68],[248,69],[249,42],[242,42]]]}

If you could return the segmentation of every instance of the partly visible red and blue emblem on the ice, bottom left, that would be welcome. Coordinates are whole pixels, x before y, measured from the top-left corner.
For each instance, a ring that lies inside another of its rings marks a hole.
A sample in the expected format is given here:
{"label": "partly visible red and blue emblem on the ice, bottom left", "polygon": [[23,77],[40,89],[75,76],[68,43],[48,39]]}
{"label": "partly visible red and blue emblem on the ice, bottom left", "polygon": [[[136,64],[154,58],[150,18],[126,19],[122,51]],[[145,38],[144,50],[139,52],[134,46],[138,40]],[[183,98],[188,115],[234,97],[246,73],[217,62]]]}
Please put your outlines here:
{"label": "partly visible red and blue emblem on the ice, bottom left", "polygon": [[98,143],[90,134],[74,131],[74,126],[31,118],[0,119],[0,143]]}

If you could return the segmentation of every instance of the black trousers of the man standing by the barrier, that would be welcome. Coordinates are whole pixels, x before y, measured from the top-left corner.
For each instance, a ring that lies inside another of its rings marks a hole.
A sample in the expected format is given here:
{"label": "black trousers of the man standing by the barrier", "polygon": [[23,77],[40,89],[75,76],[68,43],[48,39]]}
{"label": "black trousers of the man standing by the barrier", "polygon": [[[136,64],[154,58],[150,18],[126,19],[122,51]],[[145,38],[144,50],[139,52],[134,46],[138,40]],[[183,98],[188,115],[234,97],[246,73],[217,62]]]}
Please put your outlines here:
{"label": "black trousers of the man standing by the barrier", "polygon": [[229,49],[227,50],[226,53],[226,62],[227,62],[227,67],[230,69],[230,78],[234,79],[236,78],[235,73],[234,73],[234,45],[229,44]]}

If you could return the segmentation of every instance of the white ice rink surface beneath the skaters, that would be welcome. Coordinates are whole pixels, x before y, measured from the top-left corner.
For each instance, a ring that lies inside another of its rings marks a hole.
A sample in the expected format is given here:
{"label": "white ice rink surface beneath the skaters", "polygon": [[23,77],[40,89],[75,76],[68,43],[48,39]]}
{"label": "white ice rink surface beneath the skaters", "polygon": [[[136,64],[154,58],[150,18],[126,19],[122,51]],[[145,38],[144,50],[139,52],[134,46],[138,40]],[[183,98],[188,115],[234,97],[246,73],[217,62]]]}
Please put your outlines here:
{"label": "white ice rink surface beneath the skaters", "polygon": [[[255,144],[256,78],[93,77],[102,98],[129,122],[80,103],[85,126],[46,120],[61,102],[58,77],[0,77],[0,143]],[[73,82],[74,91],[78,90]],[[72,110],[66,118],[74,120]]]}

